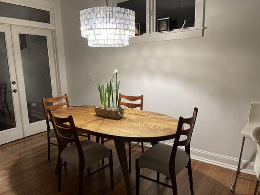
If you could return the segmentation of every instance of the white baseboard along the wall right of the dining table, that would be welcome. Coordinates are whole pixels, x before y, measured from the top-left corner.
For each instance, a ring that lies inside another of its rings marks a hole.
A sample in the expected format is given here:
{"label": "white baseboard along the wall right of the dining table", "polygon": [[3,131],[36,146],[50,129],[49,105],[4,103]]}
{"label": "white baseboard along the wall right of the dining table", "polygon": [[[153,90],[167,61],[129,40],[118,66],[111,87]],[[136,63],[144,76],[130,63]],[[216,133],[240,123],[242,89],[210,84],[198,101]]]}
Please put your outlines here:
{"label": "white baseboard along the wall right of the dining table", "polygon": [[[161,143],[173,146],[172,143],[169,143],[166,141],[161,141]],[[147,147],[151,147],[150,143],[148,143],[148,142],[144,142],[144,145]],[[192,159],[237,171],[238,162],[239,162],[238,158],[214,154],[214,153],[210,153],[210,152],[206,152],[206,151],[202,151],[202,150],[198,150],[198,149],[194,149],[194,148],[191,148],[190,150],[191,150]],[[243,173],[247,173],[247,174],[251,174],[251,175],[255,174],[253,162],[241,160],[240,167],[243,168],[241,170],[241,172],[243,172]]]}

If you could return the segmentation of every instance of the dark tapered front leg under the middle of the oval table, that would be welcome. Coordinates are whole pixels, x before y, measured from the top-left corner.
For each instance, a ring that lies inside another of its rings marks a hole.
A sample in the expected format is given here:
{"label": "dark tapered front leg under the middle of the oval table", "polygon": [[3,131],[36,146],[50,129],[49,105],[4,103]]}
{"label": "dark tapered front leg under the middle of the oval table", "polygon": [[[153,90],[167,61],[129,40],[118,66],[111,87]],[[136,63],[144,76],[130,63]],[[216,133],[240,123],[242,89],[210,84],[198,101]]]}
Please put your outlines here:
{"label": "dark tapered front leg under the middle of the oval table", "polygon": [[124,183],[126,186],[127,195],[132,195],[124,141],[119,141],[119,140],[114,140],[114,141],[115,141],[119,162],[124,176]]}

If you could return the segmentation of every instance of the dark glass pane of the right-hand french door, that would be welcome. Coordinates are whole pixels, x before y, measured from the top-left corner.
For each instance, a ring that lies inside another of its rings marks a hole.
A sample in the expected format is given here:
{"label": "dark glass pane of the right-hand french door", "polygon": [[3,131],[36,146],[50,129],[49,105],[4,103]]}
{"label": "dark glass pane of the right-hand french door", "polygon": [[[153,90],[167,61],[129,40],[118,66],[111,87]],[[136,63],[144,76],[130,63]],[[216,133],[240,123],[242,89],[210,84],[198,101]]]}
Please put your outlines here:
{"label": "dark glass pane of the right-hand french door", "polygon": [[29,123],[44,120],[41,98],[51,98],[51,76],[45,36],[19,34]]}

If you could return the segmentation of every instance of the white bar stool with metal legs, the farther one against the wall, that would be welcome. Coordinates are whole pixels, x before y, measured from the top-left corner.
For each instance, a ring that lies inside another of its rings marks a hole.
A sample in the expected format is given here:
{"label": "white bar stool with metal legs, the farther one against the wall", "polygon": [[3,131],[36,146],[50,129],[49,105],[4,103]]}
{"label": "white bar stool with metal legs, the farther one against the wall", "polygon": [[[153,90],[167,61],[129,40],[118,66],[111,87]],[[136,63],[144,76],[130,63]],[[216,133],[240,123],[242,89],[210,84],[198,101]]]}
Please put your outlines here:
{"label": "white bar stool with metal legs, the farther one against the wall", "polygon": [[[244,178],[244,179],[249,179],[253,180],[250,178],[242,177],[240,176],[240,164],[241,164],[241,158],[242,158],[242,153],[243,153],[243,148],[244,148],[244,142],[245,138],[250,138],[252,139],[252,132],[256,127],[260,127],[260,102],[252,102],[251,107],[250,107],[250,112],[249,112],[249,118],[248,118],[248,123],[246,127],[242,130],[242,147],[241,147],[241,152],[240,152],[240,158],[239,158],[239,164],[238,164],[238,170],[236,177],[232,183],[231,186],[231,191],[234,192],[236,188],[236,183],[238,180],[238,177]],[[254,180],[256,181],[256,180]]]}

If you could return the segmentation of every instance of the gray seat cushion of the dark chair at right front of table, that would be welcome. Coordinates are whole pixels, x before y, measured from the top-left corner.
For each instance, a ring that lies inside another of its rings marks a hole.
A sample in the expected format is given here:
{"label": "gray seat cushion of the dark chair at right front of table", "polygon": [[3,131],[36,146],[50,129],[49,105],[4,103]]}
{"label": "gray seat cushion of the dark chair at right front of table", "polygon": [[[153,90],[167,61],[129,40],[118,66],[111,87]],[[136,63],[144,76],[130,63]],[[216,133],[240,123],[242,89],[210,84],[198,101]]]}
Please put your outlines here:
{"label": "gray seat cushion of the dark chair at right front of table", "polygon": [[[146,150],[139,157],[139,167],[148,168],[160,172],[161,174],[170,177],[169,163],[172,152],[172,146],[158,143]],[[176,175],[187,165],[189,155],[181,149],[177,149],[175,159]]]}

